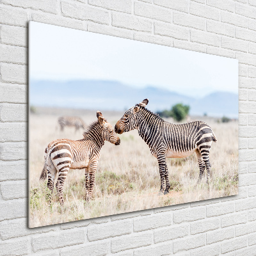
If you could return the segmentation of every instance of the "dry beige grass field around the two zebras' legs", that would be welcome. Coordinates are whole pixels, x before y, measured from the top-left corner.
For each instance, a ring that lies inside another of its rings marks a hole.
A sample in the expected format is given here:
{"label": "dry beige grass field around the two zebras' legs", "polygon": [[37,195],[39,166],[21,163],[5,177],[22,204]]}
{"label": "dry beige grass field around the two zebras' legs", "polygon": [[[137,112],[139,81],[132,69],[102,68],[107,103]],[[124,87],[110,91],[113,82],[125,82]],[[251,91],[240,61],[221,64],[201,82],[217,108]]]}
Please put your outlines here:
{"label": "dry beige grass field around the two zebras' legs", "polygon": [[[95,113],[81,117],[87,123],[96,120]],[[114,116],[112,113],[105,117],[115,125],[120,115]],[[237,122],[218,124],[214,120],[207,120],[218,138],[217,143],[212,143],[210,153],[212,181],[209,186],[205,184],[205,177],[202,184],[196,185],[199,169],[193,154],[186,159],[167,160],[172,190],[169,195],[158,196],[160,178],[157,160],[150,154],[138,132],[131,131],[120,135],[120,146],[106,142],[102,148],[93,200],[84,200],[83,170],[70,170],[64,186],[65,204],[60,207],[54,189],[52,204],[49,206],[46,182],[39,182],[45,147],[57,138],[82,138],[82,130],[75,133],[74,129],[67,128],[60,132],[57,119],[58,115],[31,115],[29,227],[237,194]]]}

